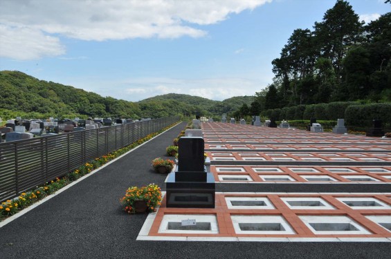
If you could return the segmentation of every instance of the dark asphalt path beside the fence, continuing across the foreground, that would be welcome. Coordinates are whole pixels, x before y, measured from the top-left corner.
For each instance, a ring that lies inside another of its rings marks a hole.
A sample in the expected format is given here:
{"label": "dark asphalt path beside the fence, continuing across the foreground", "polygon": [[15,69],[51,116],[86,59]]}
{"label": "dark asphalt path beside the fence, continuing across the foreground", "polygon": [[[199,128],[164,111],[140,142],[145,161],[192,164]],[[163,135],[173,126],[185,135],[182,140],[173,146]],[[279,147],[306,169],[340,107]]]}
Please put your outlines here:
{"label": "dark asphalt path beside the fence, continuing across the foreground", "polygon": [[[151,161],[179,124],[0,229],[0,258],[386,258],[389,243],[136,241],[147,214],[128,215],[129,186],[156,183]],[[233,190],[235,191],[235,186]],[[164,189],[164,188],[163,188]]]}

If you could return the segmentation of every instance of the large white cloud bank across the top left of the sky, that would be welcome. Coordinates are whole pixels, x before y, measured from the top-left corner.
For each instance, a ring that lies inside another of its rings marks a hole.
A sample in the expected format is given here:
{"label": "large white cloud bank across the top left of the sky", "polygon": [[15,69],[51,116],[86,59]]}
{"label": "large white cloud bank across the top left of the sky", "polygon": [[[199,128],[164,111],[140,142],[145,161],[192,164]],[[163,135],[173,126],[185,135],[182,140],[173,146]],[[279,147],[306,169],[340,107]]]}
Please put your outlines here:
{"label": "large white cloud bank across the top left of the sky", "polygon": [[86,41],[203,37],[208,32],[199,26],[224,21],[232,13],[271,1],[0,1],[1,32],[6,32],[1,33],[0,56],[37,59],[63,55],[60,37]]}

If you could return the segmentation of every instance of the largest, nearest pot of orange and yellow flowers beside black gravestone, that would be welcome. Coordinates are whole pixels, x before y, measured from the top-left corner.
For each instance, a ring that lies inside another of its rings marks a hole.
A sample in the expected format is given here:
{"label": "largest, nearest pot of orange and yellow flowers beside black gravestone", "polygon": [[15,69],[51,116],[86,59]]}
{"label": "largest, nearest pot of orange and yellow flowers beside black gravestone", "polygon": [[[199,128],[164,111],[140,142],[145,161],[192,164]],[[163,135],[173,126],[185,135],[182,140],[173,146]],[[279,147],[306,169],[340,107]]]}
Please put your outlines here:
{"label": "largest, nearest pot of orange and yellow flowers beside black gravestone", "polygon": [[129,187],[120,202],[127,213],[154,212],[161,204],[161,188],[157,184]]}

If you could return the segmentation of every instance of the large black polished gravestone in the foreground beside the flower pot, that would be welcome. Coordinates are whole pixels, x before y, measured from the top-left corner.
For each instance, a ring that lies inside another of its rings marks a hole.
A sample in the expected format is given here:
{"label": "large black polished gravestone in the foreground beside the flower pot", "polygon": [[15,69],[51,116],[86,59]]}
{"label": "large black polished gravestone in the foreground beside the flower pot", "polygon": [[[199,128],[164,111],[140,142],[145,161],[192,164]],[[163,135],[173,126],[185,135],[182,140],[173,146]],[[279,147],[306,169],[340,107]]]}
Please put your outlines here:
{"label": "large black polished gravestone in the foreground beside the flower pot", "polygon": [[179,139],[178,166],[167,176],[167,207],[215,208],[215,178],[206,171],[202,137]]}

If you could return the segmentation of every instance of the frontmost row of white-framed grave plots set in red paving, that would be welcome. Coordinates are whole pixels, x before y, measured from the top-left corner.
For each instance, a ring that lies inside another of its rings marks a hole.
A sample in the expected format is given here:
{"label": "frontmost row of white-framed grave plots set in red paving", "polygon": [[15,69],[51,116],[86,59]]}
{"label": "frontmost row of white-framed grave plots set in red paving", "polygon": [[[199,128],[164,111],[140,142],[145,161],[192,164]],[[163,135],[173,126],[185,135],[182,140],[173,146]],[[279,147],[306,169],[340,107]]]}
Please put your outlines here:
{"label": "frontmost row of white-framed grave plots set in red paving", "polygon": [[391,242],[390,229],[391,193],[232,192],[216,193],[214,209],[163,199],[137,240]]}

